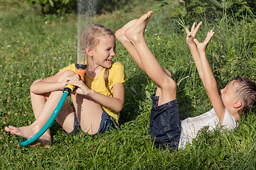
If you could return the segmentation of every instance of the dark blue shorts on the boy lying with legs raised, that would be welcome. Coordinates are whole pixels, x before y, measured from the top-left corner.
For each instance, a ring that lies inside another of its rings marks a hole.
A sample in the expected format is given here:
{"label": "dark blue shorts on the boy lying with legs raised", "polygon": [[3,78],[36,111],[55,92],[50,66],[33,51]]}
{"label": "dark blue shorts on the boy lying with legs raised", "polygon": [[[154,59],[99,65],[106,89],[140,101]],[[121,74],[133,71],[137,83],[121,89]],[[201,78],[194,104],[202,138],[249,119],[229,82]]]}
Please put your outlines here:
{"label": "dark blue shorts on the boy lying with legs raised", "polygon": [[159,96],[153,94],[149,132],[156,148],[167,146],[177,150],[181,137],[181,119],[178,116],[178,100],[158,106]]}

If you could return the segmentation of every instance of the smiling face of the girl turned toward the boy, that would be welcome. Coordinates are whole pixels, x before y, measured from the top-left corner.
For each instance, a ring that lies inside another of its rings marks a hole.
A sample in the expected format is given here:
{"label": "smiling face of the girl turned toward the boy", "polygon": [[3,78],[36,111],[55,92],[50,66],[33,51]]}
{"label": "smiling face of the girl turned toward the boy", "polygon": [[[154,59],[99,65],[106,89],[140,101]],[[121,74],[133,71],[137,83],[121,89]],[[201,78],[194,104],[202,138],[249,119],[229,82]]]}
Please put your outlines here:
{"label": "smiling face of the girl turned toward the boy", "polygon": [[104,68],[112,66],[112,58],[116,54],[114,36],[104,36],[93,51],[94,63]]}

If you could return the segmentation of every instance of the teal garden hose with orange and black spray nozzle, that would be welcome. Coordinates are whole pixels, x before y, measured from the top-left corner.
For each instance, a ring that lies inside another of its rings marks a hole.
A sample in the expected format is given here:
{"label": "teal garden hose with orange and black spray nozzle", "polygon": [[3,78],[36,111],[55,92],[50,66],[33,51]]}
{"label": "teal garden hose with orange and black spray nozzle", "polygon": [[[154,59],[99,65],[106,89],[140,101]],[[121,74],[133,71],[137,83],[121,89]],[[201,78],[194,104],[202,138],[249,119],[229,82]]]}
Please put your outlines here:
{"label": "teal garden hose with orange and black spray nozzle", "polygon": [[[75,73],[80,76],[81,80],[85,72],[86,72],[85,64],[75,64]],[[19,142],[21,146],[26,147],[26,145],[30,145],[31,143],[35,142],[36,140],[38,140],[39,137],[41,137],[41,135],[43,135],[44,132],[46,132],[46,130],[48,130],[48,128],[50,128],[50,126],[53,124],[53,121],[55,120],[58,113],[60,112],[60,108],[62,108],[63,103],[65,102],[65,99],[68,97],[68,95],[70,95],[73,92],[74,89],[75,89],[75,86],[71,84],[68,84],[67,86],[65,86],[65,88],[63,89],[63,95],[61,96],[60,101],[58,102],[58,105],[54,109],[53,113],[50,115],[50,118],[47,120],[46,124],[43,125],[43,128],[41,128],[41,130],[39,130],[36,133],[36,135],[33,135],[33,137],[29,138],[28,140],[22,140],[21,142]]]}

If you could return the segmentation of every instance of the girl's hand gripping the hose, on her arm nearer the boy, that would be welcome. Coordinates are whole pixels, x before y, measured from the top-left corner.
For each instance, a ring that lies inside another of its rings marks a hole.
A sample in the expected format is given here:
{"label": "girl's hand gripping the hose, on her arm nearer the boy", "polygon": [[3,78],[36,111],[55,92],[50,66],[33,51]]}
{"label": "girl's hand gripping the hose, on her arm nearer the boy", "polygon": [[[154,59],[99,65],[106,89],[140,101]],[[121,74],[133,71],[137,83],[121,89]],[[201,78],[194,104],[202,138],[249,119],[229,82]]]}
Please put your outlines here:
{"label": "girl's hand gripping the hose, on her arm nearer the boy", "polygon": [[82,95],[88,95],[91,91],[85,83],[80,80],[80,77],[78,74],[75,76],[71,77],[71,79],[68,81],[68,84],[72,84],[73,86],[77,86],[78,89],[75,90],[76,94],[82,94]]}

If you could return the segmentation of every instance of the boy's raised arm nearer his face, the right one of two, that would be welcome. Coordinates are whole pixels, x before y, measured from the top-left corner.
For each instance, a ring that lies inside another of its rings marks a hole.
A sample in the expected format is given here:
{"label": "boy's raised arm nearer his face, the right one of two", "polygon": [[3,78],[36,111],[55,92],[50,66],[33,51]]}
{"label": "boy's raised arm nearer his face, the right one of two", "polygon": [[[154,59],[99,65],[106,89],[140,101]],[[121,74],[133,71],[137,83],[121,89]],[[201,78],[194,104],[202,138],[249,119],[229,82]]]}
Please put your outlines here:
{"label": "boy's raised arm nearer his face, the right one of two", "polygon": [[213,30],[210,30],[210,32],[208,32],[206,40],[204,40],[202,43],[198,42],[197,40],[195,42],[198,47],[198,54],[201,59],[201,68],[204,80],[203,85],[206,88],[207,94],[210,98],[210,102],[212,103],[214,111],[216,115],[218,115],[221,124],[223,122],[223,118],[225,115],[225,106],[218,93],[217,83],[206,57],[206,47],[208,45],[208,42],[210,42],[210,39],[213,37],[213,35]]}

